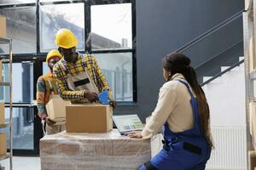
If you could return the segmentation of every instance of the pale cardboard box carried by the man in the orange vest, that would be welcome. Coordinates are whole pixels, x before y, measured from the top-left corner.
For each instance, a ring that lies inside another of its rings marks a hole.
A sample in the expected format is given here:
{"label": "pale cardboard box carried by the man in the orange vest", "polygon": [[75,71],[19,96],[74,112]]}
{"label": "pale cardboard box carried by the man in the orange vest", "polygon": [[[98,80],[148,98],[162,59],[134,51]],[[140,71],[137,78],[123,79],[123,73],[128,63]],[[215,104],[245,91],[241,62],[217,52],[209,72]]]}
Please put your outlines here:
{"label": "pale cardboard box carried by the man in the orange vest", "polygon": [[61,99],[59,95],[50,95],[46,111],[49,118],[55,122],[63,122],[66,120],[66,105],[70,105],[70,101]]}

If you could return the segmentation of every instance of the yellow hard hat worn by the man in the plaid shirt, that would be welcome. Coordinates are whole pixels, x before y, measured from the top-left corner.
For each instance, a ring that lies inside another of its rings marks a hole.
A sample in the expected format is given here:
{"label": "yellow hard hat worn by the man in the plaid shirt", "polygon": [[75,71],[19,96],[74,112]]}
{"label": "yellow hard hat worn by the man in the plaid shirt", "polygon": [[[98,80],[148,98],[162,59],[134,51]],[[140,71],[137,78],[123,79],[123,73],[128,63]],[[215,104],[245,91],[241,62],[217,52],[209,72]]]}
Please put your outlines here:
{"label": "yellow hard hat worn by the man in the plaid shirt", "polygon": [[61,48],[73,48],[78,45],[78,39],[72,31],[62,28],[55,36],[55,44]]}

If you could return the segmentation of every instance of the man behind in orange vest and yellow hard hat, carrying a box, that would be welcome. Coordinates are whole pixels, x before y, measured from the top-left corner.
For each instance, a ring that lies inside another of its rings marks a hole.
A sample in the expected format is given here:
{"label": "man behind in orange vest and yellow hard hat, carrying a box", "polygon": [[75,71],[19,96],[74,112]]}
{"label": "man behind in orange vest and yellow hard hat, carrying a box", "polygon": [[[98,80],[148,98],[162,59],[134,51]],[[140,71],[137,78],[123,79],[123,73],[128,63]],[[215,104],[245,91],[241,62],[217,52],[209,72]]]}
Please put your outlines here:
{"label": "man behind in orange vest and yellow hard hat, carrying a box", "polygon": [[58,50],[51,50],[47,54],[46,63],[49,67],[49,72],[38,78],[37,83],[37,102],[38,116],[43,122],[43,130],[45,134],[59,133],[65,130],[65,125],[55,125],[55,122],[49,119],[45,105],[49,102],[51,94],[59,94],[57,84],[52,76],[53,66],[62,58]]}

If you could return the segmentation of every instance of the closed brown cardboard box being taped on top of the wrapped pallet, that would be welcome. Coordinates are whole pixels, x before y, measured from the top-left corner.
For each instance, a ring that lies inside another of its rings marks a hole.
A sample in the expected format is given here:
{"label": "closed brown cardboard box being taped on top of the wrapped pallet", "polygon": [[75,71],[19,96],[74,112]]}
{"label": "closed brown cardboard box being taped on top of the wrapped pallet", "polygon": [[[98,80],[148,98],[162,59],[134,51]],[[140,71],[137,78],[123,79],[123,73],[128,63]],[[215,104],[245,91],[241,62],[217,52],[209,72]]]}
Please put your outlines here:
{"label": "closed brown cardboard box being taped on top of the wrapped pallet", "polygon": [[107,133],[113,129],[110,105],[67,105],[67,133]]}

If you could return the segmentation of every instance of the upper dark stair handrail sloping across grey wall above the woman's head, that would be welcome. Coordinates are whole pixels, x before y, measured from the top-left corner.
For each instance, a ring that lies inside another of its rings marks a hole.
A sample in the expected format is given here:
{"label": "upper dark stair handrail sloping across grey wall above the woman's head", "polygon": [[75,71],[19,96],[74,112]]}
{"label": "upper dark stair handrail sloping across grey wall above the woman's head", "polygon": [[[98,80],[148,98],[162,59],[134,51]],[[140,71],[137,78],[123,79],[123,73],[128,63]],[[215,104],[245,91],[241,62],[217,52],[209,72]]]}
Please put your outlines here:
{"label": "upper dark stair handrail sloping across grey wall above the woman's head", "polygon": [[222,21],[217,26],[213,26],[210,30],[204,32],[199,37],[195,37],[195,39],[193,39],[190,42],[186,43],[181,48],[177,48],[176,52],[182,53],[183,51],[185,51],[188,48],[191,48],[192,46],[197,44],[198,42],[201,42],[203,39],[205,39],[206,37],[212,35],[214,32],[218,31],[220,28],[229,25],[233,20],[236,20],[239,17],[241,17],[242,16],[242,12],[243,12],[243,10],[241,10],[238,13],[230,16],[230,18],[228,18],[227,20]]}

